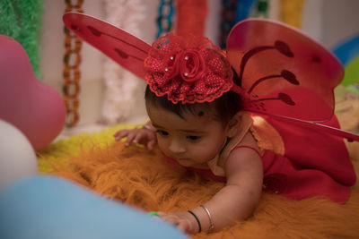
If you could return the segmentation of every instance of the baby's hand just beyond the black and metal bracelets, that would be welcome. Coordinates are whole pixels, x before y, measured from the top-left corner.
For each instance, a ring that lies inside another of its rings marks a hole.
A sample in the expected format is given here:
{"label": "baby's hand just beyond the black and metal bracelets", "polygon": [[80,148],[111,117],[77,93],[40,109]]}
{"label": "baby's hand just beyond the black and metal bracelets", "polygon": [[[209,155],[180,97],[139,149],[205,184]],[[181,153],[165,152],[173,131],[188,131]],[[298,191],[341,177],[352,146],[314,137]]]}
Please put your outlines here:
{"label": "baby's hand just beyond the black and metal bracelets", "polygon": [[161,216],[161,219],[171,223],[174,226],[177,226],[177,228],[185,233],[197,234],[199,231],[196,219],[193,218],[193,216],[190,215],[188,211],[171,213],[159,211],[158,214]]}

